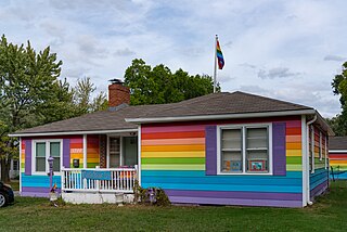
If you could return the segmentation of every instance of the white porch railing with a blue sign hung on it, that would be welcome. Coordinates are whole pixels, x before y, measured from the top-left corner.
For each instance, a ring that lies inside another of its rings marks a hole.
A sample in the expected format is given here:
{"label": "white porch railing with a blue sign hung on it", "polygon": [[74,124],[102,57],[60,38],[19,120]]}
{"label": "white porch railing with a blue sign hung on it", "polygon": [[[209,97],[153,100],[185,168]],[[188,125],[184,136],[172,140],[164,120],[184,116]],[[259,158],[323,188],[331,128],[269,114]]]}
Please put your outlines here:
{"label": "white porch railing with a blue sign hung on it", "polygon": [[134,168],[63,168],[62,191],[133,193]]}

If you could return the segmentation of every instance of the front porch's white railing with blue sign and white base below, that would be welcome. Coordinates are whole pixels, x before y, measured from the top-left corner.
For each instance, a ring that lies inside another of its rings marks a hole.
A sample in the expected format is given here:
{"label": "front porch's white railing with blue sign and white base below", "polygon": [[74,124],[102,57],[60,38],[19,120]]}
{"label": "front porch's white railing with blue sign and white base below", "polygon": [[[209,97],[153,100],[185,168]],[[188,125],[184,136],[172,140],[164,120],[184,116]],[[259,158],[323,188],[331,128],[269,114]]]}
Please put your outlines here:
{"label": "front porch's white railing with blue sign and white base below", "polygon": [[62,169],[61,194],[74,204],[133,202],[138,166],[133,168]]}

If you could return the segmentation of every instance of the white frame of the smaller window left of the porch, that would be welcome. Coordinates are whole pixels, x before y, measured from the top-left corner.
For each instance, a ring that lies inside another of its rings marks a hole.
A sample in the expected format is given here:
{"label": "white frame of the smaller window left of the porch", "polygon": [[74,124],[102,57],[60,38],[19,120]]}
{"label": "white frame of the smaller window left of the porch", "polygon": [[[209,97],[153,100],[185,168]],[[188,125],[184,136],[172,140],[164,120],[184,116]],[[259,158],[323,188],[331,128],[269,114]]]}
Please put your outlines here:
{"label": "white frame of the smaller window left of the porch", "polygon": [[[63,140],[53,139],[53,140],[33,140],[31,142],[31,173],[39,176],[47,176],[50,171],[50,167],[48,164],[48,158],[50,157],[50,143],[51,142],[60,142],[61,145],[61,154],[60,154],[60,166],[61,171],[63,168]],[[36,143],[46,143],[46,171],[36,171]],[[61,171],[54,171],[55,176],[61,176]]]}

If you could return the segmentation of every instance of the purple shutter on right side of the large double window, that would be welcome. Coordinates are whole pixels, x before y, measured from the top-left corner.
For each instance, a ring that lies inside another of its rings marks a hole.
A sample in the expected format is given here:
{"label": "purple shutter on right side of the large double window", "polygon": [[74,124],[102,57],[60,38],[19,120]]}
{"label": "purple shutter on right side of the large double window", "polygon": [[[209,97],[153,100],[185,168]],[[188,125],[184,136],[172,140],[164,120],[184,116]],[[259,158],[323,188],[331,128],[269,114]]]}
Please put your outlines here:
{"label": "purple shutter on right side of the large double window", "polygon": [[285,176],[285,123],[272,124],[272,158],[273,176]]}

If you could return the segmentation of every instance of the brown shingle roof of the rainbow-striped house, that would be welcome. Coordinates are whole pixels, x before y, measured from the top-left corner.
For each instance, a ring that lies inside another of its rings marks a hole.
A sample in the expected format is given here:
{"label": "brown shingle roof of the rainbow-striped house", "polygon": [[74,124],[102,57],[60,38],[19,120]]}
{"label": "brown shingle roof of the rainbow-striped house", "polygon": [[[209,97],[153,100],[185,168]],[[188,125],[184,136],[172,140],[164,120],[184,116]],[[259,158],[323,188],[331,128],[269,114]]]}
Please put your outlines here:
{"label": "brown shingle roof of the rainbow-striped house", "polygon": [[239,91],[233,93],[221,92],[179,103],[127,106],[116,112],[97,112],[16,131],[13,136],[24,133],[124,130],[136,129],[138,127],[134,124],[127,123],[125,118],[205,116],[300,109],[313,108]]}

